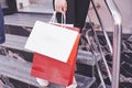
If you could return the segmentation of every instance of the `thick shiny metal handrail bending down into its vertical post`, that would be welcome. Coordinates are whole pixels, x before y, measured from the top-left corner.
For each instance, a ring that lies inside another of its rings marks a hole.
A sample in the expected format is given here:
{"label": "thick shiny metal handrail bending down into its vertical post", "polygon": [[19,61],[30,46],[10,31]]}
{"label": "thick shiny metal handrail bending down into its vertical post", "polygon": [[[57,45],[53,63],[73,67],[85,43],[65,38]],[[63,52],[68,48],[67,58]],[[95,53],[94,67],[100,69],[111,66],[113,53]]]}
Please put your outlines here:
{"label": "thick shiny metal handrail bending down into its vertical post", "polygon": [[120,79],[120,58],[121,58],[121,36],[122,19],[121,13],[112,0],[105,0],[114,21],[113,30],[113,61],[112,61],[112,88],[119,88]]}

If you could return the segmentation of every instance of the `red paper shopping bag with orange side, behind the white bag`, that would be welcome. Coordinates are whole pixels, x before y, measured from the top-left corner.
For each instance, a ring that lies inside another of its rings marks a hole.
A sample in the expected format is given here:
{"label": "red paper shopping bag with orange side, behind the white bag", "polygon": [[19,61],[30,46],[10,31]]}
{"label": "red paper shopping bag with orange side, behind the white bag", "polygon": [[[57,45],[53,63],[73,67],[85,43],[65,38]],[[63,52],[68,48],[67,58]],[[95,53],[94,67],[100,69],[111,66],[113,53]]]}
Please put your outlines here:
{"label": "red paper shopping bag with orange side, behind the white bag", "polygon": [[[77,29],[68,29],[79,31]],[[69,86],[73,82],[73,77],[75,75],[76,54],[79,38],[80,34],[78,33],[67,63],[34,53],[31,75],[62,86]]]}

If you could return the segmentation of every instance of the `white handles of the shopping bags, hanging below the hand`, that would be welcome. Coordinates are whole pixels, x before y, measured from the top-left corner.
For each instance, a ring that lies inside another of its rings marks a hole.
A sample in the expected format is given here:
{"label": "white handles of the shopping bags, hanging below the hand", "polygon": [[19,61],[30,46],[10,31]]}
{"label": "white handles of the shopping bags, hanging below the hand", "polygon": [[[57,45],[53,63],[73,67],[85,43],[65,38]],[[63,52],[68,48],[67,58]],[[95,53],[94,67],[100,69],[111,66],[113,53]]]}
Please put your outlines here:
{"label": "white handles of the shopping bags, hanging below the hand", "polygon": [[[53,12],[52,19],[50,20],[50,23],[56,23],[56,11]],[[66,14],[62,13],[62,26],[66,24]]]}

